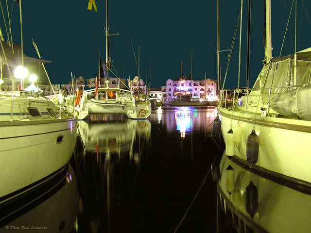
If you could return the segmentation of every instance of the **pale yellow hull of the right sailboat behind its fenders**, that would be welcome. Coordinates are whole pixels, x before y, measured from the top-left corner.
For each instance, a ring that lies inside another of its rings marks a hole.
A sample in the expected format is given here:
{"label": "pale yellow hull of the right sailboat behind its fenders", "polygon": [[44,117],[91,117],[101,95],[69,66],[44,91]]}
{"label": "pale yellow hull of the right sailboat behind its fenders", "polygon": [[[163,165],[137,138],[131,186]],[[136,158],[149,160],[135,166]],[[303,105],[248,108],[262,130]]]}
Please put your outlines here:
{"label": "pale yellow hull of the right sailboat behind its fenders", "polygon": [[246,161],[246,141],[255,129],[259,136],[259,159],[254,169],[301,185],[311,186],[309,143],[311,122],[286,117],[268,117],[242,111],[229,111],[219,107],[222,133],[239,122],[242,127],[242,141],[235,146],[234,156]]}

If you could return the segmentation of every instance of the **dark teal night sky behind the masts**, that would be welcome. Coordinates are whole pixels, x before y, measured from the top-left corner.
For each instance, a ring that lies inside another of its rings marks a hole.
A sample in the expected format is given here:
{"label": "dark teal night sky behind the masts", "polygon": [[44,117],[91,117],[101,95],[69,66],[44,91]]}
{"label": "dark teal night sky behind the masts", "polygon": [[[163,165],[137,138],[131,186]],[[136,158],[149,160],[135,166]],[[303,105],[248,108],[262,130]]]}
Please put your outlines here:
{"label": "dark teal night sky behind the masts", "polygon": [[[97,12],[87,10],[88,0],[22,0],[24,53],[37,58],[34,39],[46,64],[52,83],[68,83],[71,72],[75,77],[94,78],[98,72],[99,52],[105,58],[105,0],[95,0]],[[292,0],[272,0],[273,56],[279,56],[287,14]],[[6,4],[1,0],[2,7]],[[285,9],[285,3],[287,13]],[[11,3],[9,3],[11,4]],[[311,2],[304,1],[307,12]],[[229,50],[237,24],[241,1],[220,0],[220,50]],[[246,33],[248,1],[243,3],[242,55],[240,86],[245,86]],[[6,9],[6,8],[5,8]],[[11,5],[9,6],[11,10]],[[6,12],[6,10],[5,10]],[[12,19],[13,42],[20,43],[19,12],[14,3]],[[250,46],[250,86],[262,68],[263,0],[252,1]],[[294,52],[294,8],[281,55]],[[302,13],[302,15],[301,15]],[[311,15],[311,14],[310,14]],[[311,18],[311,16],[309,16]],[[140,76],[151,77],[151,87],[166,85],[167,79],[189,76],[192,59],[192,79],[206,77],[217,80],[216,0],[110,0],[109,37],[113,68],[110,75],[133,79],[138,74],[138,46],[140,48]],[[1,30],[5,33],[3,20]],[[233,47],[225,87],[232,88],[238,81],[240,24]],[[311,47],[311,25],[301,0],[297,0],[297,51]],[[6,38],[6,36],[4,35]],[[131,43],[132,40],[132,43]],[[222,80],[225,76],[229,51],[221,53]],[[150,74],[151,67],[151,74]],[[223,81],[222,81],[223,82]],[[149,85],[149,84],[148,84]]]}

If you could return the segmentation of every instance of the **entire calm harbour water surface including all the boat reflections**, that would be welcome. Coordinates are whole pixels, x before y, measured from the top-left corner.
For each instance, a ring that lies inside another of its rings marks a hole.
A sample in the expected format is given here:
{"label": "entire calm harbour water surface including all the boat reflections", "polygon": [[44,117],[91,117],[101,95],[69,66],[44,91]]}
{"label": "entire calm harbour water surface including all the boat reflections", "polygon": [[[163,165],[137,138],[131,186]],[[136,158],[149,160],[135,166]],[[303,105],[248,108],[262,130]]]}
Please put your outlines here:
{"label": "entire calm harbour water surface including all the boat reflections", "polygon": [[147,121],[79,121],[68,166],[17,202],[0,202],[0,232],[309,233],[310,190],[229,160],[222,138],[209,136],[215,116],[214,107],[173,107]]}

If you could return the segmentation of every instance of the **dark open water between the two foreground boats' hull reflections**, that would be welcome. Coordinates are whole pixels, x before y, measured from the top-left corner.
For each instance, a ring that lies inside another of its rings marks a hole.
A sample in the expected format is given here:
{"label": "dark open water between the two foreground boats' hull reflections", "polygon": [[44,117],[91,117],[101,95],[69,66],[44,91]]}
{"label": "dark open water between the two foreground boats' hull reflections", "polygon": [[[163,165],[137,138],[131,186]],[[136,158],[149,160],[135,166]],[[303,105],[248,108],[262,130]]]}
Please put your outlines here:
{"label": "dark open water between the two foreground boats' hull reflections", "polygon": [[216,114],[215,107],[174,107],[154,110],[149,121],[79,122],[84,147],[70,161],[78,231],[216,232],[210,167],[222,151],[208,135]]}

